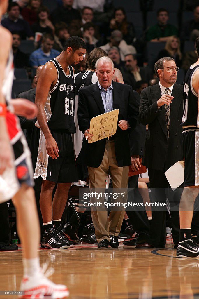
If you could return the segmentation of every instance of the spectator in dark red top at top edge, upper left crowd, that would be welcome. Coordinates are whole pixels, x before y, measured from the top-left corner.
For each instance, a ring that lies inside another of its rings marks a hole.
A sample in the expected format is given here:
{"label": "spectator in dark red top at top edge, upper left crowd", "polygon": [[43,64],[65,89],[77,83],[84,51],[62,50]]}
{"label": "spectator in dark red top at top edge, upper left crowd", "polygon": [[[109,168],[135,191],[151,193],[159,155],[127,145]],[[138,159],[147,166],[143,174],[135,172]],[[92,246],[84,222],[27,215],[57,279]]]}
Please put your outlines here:
{"label": "spectator in dark red top at top edge, upper left crowd", "polygon": [[37,22],[37,12],[41,6],[41,0],[30,0],[29,5],[21,11],[21,15],[24,17],[30,25]]}

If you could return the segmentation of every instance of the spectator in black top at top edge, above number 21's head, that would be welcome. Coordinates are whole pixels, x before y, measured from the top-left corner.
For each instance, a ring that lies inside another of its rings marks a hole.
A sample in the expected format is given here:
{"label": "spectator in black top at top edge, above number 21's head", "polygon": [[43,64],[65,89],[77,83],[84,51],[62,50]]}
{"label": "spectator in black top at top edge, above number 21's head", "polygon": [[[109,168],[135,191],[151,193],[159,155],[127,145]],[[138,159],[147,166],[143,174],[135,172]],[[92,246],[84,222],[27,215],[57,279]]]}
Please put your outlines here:
{"label": "spectator in black top at top edge, above number 21's head", "polygon": [[69,26],[72,20],[81,20],[78,10],[72,8],[73,0],[63,0],[63,6],[56,8],[52,13],[53,23],[66,22]]}

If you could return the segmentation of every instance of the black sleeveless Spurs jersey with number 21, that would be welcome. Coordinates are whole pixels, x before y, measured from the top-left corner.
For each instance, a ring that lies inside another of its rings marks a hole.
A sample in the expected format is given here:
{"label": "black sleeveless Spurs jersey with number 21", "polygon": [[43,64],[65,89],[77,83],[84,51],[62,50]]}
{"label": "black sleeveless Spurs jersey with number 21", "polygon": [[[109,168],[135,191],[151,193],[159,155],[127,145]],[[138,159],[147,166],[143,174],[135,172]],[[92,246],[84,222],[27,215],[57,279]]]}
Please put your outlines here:
{"label": "black sleeveless Spurs jersey with number 21", "polygon": [[[49,91],[45,105],[47,123],[50,130],[64,130],[66,133],[76,132],[74,123],[75,82],[72,66],[68,66],[70,74],[67,75],[59,62],[54,58],[50,60],[57,68],[57,82]],[[35,123],[39,127],[38,121]]]}

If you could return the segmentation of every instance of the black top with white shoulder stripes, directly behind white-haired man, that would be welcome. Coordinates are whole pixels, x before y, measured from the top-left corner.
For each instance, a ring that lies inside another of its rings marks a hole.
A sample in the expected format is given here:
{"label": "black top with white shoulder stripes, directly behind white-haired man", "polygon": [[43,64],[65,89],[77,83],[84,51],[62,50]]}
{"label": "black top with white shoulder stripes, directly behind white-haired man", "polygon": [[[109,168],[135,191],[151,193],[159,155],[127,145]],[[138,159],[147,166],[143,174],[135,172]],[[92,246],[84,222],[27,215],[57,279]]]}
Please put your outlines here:
{"label": "black top with white shoulder stripes, directly behind white-haired man", "polygon": [[98,80],[94,71],[82,71],[81,73],[75,74],[75,86],[76,95],[79,95],[79,89],[85,86],[95,84]]}

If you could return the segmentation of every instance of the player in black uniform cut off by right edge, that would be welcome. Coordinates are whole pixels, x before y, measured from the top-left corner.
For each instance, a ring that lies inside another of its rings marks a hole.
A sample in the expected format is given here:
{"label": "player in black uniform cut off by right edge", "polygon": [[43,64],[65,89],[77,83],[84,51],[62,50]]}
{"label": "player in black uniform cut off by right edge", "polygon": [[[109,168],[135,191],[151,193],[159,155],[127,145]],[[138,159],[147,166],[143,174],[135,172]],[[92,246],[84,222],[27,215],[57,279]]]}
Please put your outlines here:
{"label": "player in black uniform cut off by right edge", "polygon": [[[195,41],[199,56],[199,37]],[[182,144],[184,190],[180,203],[180,242],[177,257],[199,257],[199,247],[191,235],[194,202],[199,193],[199,59],[190,66],[184,80]]]}

